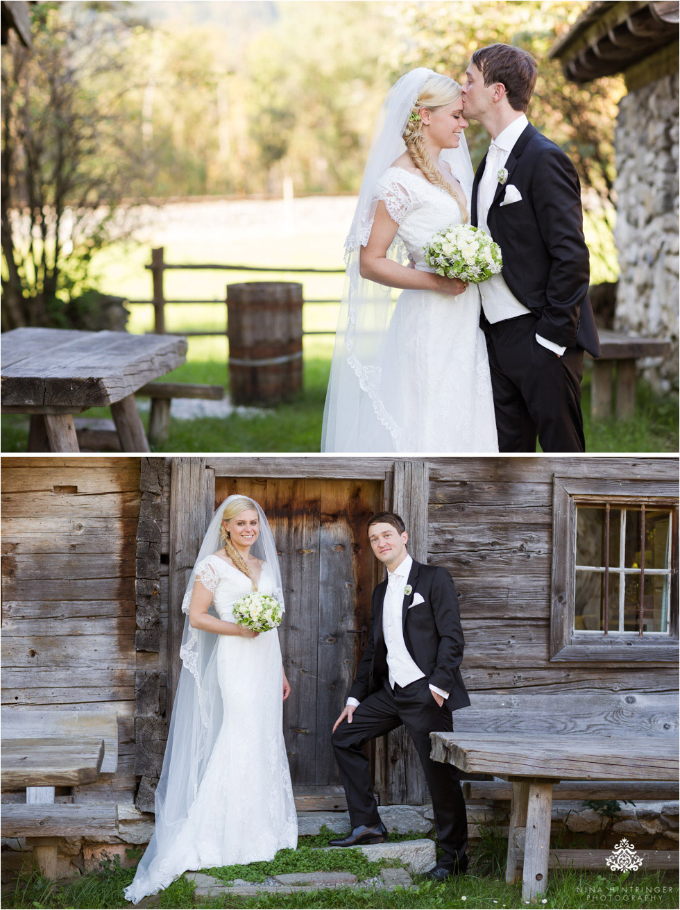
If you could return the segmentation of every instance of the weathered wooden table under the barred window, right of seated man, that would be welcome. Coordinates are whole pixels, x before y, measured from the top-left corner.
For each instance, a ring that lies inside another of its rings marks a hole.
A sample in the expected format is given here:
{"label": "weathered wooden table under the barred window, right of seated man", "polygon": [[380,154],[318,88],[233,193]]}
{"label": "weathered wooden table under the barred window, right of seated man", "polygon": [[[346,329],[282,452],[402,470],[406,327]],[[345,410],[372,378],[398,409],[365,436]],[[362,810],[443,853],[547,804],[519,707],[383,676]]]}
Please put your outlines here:
{"label": "weathered wooden table under the barred window, right of seated man", "polygon": [[430,739],[435,761],[513,784],[505,880],[518,877],[524,854],[523,900],[535,900],[547,887],[554,784],[678,778],[677,743],[669,737],[431,733]]}

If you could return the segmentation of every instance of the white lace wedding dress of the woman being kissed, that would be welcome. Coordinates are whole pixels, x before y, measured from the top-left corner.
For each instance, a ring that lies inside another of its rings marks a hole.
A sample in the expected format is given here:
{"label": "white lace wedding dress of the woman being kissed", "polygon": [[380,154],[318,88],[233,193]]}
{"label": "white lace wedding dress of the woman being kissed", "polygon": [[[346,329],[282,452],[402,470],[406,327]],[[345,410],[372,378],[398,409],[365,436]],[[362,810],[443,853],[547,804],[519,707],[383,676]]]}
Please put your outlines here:
{"label": "white lace wedding dress of the woman being kissed", "polygon": [[[469,200],[472,187],[463,190]],[[375,197],[399,225],[397,238],[412,265],[434,272],[425,262],[424,247],[437,231],[461,223],[455,199],[404,167],[385,171]],[[368,392],[357,450],[498,450],[480,308],[476,285],[458,297],[428,290],[401,292],[384,339],[383,369],[362,372],[355,366]]]}

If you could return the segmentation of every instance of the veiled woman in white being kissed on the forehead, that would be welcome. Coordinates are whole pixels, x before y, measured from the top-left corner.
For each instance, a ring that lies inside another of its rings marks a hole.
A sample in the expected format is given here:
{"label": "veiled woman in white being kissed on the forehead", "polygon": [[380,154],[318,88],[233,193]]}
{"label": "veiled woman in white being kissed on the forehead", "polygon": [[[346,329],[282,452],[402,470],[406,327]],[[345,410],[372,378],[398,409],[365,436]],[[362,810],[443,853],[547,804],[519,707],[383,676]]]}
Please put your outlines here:
{"label": "veiled woman in white being kissed on the forehead", "polygon": [[423,249],[469,221],[466,126],[460,86],[432,70],[385,98],[345,243],[322,451],[498,450],[479,288],[436,275]]}

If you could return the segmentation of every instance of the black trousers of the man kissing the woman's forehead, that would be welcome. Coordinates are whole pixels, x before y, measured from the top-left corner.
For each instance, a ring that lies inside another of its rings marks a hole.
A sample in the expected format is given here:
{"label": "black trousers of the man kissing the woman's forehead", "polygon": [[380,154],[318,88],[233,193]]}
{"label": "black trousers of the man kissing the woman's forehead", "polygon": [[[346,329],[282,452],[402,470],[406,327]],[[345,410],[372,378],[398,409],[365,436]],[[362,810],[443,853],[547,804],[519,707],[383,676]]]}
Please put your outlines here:
{"label": "black trousers of the man kissing the woman's forehead", "polygon": [[581,413],[583,349],[562,357],[535,339],[532,313],[489,324],[482,319],[494,390],[498,448],[535,452],[585,451]]}

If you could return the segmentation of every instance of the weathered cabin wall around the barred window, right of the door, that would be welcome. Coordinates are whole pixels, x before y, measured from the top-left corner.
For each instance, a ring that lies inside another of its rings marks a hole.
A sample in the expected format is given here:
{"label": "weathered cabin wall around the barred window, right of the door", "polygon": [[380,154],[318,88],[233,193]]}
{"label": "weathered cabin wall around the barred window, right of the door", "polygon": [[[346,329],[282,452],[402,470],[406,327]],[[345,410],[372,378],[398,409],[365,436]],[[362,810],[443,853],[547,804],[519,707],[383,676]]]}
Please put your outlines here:
{"label": "weathered cabin wall around the barred window, right of the door", "polygon": [[[481,458],[430,461],[428,561],[458,591],[465,633],[462,672],[473,705],[493,696],[572,693],[575,716],[588,696],[677,692],[675,667],[644,662],[550,662],[553,480],[677,480],[675,459]],[[618,701],[623,701],[619,699]],[[611,704],[603,701],[602,711]],[[564,703],[564,701],[562,702]],[[642,703],[642,702],[640,702]],[[674,709],[675,710],[675,709]],[[614,718],[610,718],[614,720]],[[567,728],[565,727],[565,730]]]}

